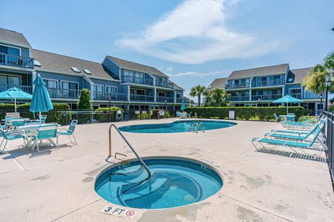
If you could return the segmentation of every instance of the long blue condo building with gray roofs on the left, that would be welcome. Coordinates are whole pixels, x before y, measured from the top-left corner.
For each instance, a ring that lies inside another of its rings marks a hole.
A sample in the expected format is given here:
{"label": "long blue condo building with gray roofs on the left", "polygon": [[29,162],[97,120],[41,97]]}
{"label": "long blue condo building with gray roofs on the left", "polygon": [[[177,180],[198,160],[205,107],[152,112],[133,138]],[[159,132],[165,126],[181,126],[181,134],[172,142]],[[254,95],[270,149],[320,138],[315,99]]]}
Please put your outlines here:
{"label": "long blue condo building with gray roofs on the left", "polygon": [[95,108],[180,110],[184,98],[184,89],[154,67],[112,56],[99,63],[40,51],[33,49],[22,33],[0,28],[0,92],[19,87],[32,93],[38,74],[45,80],[51,100],[68,103],[74,110],[81,89],[90,89]]}

